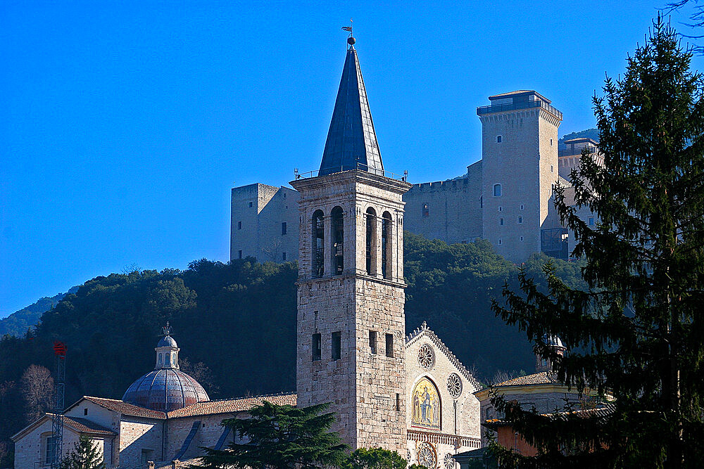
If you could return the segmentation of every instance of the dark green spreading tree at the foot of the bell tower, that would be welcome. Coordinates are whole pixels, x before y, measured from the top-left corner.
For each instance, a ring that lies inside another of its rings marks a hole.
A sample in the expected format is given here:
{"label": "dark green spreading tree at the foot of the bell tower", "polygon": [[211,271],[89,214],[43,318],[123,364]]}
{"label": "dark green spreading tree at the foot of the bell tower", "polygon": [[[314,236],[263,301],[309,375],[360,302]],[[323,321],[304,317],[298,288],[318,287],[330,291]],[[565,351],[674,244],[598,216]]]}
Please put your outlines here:
{"label": "dark green spreading tree at the foot of the bell tower", "polygon": [[[230,418],[222,425],[237,436],[228,449],[203,448],[206,468],[313,469],[339,466],[348,446],[331,432],[334,413],[322,413],[327,404],[298,409],[268,401],[249,411],[250,418]],[[239,443],[238,443],[239,441]]]}

